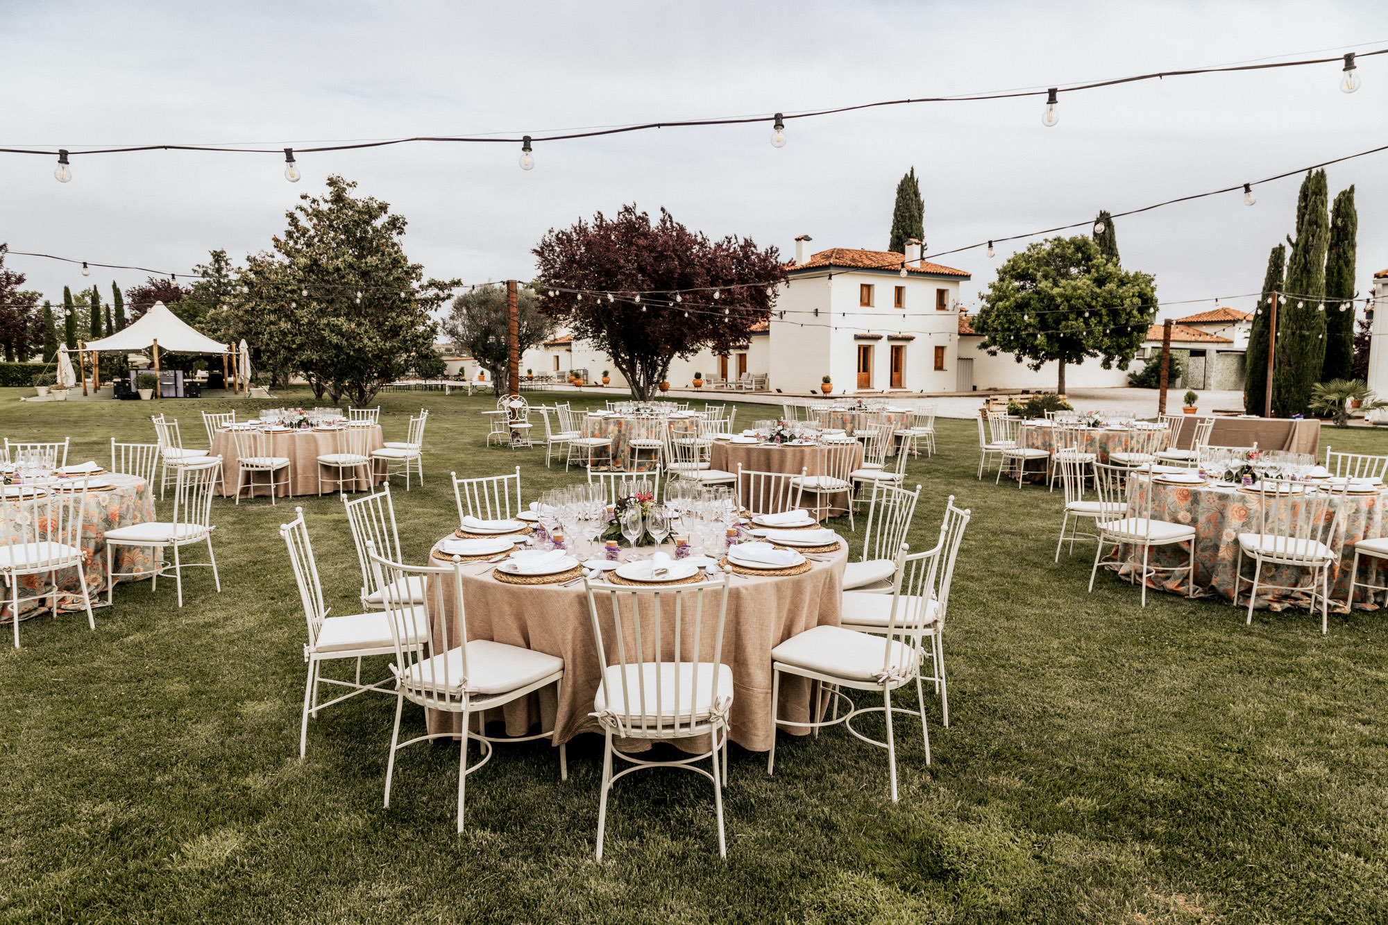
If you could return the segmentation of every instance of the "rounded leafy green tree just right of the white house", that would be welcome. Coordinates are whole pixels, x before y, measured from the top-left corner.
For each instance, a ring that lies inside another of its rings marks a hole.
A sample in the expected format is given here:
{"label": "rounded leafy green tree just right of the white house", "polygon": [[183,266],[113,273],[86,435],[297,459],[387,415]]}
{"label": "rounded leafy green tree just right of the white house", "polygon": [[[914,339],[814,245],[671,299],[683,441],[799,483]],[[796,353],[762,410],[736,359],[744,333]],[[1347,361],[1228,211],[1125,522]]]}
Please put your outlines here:
{"label": "rounded leafy green tree just right of the white house", "polygon": [[1040,369],[1056,362],[1056,390],[1065,368],[1098,357],[1127,369],[1156,315],[1151,274],[1126,272],[1087,236],[1030,244],[998,268],[973,329],[988,356],[1010,353]]}

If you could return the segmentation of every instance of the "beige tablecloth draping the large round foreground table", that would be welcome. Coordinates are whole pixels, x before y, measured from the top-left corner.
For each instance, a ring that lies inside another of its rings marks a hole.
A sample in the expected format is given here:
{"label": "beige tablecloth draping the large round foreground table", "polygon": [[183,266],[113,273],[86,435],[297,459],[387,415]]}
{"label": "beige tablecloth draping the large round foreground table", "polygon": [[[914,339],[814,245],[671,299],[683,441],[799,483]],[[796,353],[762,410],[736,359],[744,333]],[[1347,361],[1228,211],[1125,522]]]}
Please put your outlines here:
{"label": "beige tablecloth draping the large round foreground table", "polygon": [[[650,556],[655,549],[641,547],[640,556]],[[659,549],[673,556],[673,546]],[[734,574],[730,579],[720,661],[733,669],[731,739],[744,749],[766,751],[772,746],[772,649],[806,629],[838,625],[844,564],[848,561],[847,542],[841,540],[836,553],[815,556],[811,569],[801,575]],[[826,561],[816,561],[819,558]],[[429,564],[444,562],[430,558]],[[436,581],[437,576],[430,576],[430,582]],[[666,590],[669,588],[665,586]],[[623,586],[623,590],[637,589]],[[430,597],[433,592],[430,588]],[[602,732],[597,719],[589,715],[593,712],[601,675],[593,640],[593,619],[582,582],[566,588],[509,585],[493,578],[487,562],[465,562],[462,599],[468,639],[490,639],[564,658],[564,685],[558,701],[554,688],[545,688],[489,711],[483,722],[504,719],[505,732],[511,736],[525,735],[533,724],[540,722],[541,728],[554,729],[555,744],[568,742],[580,732]],[[451,581],[443,582],[443,610],[448,621],[448,639],[457,644],[458,607],[452,599]],[[673,628],[673,610],[663,615],[663,626]],[[672,635],[665,633],[666,639]],[[434,640],[439,643],[441,639],[439,632]],[[704,640],[708,651],[700,653],[700,658],[711,661],[712,635],[705,633]],[[673,651],[666,656],[673,657]],[[797,722],[809,719],[811,694],[812,685],[806,679],[783,676],[777,715]],[[430,733],[461,731],[458,714],[451,712],[429,711],[428,725]],[[809,732],[798,726],[786,726],[783,731],[793,735]],[[618,742],[625,750],[641,750],[650,744],[644,740]]]}

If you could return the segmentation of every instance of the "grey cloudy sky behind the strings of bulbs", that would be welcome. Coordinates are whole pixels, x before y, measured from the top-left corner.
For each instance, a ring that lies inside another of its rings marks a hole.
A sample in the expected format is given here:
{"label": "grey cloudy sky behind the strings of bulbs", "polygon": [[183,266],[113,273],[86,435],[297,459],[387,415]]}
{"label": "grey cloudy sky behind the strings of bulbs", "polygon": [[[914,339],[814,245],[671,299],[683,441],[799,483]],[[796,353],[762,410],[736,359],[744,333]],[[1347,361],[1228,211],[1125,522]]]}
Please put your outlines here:
{"label": "grey cloudy sky behind the strings of bulbs", "polygon": [[[1388,46],[1388,4],[1320,3],[31,3],[0,0],[0,146],[541,133],[770,114],[904,96],[1045,88],[1341,46]],[[1367,47],[1360,49],[1367,50]],[[1320,56],[1317,56],[1320,57]],[[886,249],[915,165],[930,250],[1083,221],[1388,143],[1388,56],[1339,68],[1191,76],[1037,99],[892,107],[769,124],[539,144],[411,144],[283,157],[151,151],[54,161],[0,154],[0,240],[115,264],[189,269],[265,247],[328,174],[409,219],[434,276],[526,278],[551,226],[634,201],[712,236],[793,250]],[[1356,185],[1359,281],[1388,267],[1388,151],[1328,169]],[[1292,232],[1296,179],[1117,222],[1128,268],[1163,301],[1255,290]],[[1022,244],[1019,244],[1022,246]],[[941,258],[994,278],[999,247]],[[12,257],[50,297],[75,268]],[[122,288],[142,274],[115,272]],[[1212,306],[1213,303],[1209,303]],[[1230,304],[1248,307],[1248,300]],[[1209,307],[1205,306],[1205,307]],[[1173,307],[1188,314],[1201,306]]]}

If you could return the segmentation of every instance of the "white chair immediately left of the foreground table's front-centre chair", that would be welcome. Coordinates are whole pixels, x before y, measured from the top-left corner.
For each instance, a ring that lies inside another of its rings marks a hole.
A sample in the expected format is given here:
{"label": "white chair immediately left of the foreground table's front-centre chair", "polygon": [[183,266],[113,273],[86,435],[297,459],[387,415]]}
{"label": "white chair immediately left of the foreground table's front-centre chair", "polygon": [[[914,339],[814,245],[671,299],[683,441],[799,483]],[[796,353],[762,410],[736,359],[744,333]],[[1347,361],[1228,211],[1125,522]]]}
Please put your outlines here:
{"label": "white chair immediately left of the foreground table's front-centre chair", "polygon": [[[400,588],[418,582],[429,588],[421,606],[386,594],[386,617],[394,636],[396,725],[390,733],[390,760],[386,762],[384,806],[390,807],[390,785],[396,774],[396,753],[416,742],[461,739],[458,756],[458,831],[462,832],[462,807],[468,775],[491,760],[493,742],[532,742],[552,738],[554,731],[498,739],[471,731],[472,714],[502,707],[541,688],[555,686],[562,694],[564,660],[533,649],[509,646],[490,639],[468,639],[468,617],[462,607],[462,564],[404,565],[383,558],[368,547],[380,588]],[[430,581],[430,578],[433,581]],[[430,588],[432,585],[432,588]],[[446,589],[450,592],[446,594]],[[444,606],[452,600],[452,611]],[[454,626],[457,626],[454,629]],[[419,633],[432,639],[429,646],[414,644]],[[433,732],[400,740],[400,715],[405,700],[425,710],[454,714],[457,731]],[[477,740],[482,760],[468,767],[468,742]],[[568,779],[565,746],[559,744],[559,778]]]}

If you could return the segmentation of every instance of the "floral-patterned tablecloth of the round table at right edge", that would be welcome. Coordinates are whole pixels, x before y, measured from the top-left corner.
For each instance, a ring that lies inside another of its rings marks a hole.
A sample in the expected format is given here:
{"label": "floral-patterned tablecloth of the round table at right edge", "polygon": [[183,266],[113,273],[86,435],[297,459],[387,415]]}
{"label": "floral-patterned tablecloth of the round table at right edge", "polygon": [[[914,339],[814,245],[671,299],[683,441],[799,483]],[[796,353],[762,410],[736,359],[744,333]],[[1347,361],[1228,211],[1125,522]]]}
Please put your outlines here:
{"label": "floral-patterned tablecloth of the round table at right edge", "polygon": [[[1244,492],[1228,485],[1206,483],[1205,486],[1152,483],[1146,478],[1128,481],[1128,517],[1135,517],[1146,503],[1146,492],[1153,490],[1152,517],[1174,524],[1195,525],[1195,596],[1234,600],[1235,568],[1238,567],[1238,535],[1256,532],[1262,499],[1252,492]],[[1384,535],[1384,494],[1345,494],[1331,499],[1327,517],[1335,515],[1344,506],[1334,531],[1330,547],[1339,553],[1339,560],[1330,567],[1330,604],[1332,610],[1344,611],[1349,594],[1349,568],[1353,564],[1353,543]],[[1185,565],[1188,553],[1183,546],[1153,546],[1148,561],[1152,565]],[[1245,575],[1252,575],[1252,560],[1245,556]],[[1131,576],[1141,571],[1141,547],[1122,547],[1116,560],[1106,561],[1120,575]],[[1384,583],[1380,571],[1381,560],[1360,558],[1359,581]],[[1366,571],[1369,569],[1369,571]],[[1307,607],[1310,596],[1301,592],[1264,592],[1262,585],[1305,585],[1306,569],[1294,567],[1264,565],[1259,579],[1258,607],[1266,610],[1287,610]],[[1244,583],[1248,589],[1248,582]],[[1158,590],[1185,593],[1185,572],[1158,572],[1148,576],[1148,586]],[[1356,603],[1376,606],[1373,594],[1357,590]],[[1380,593],[1381,597],[1381,593]]]}

